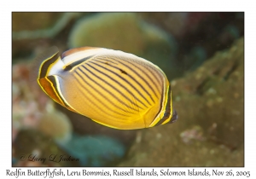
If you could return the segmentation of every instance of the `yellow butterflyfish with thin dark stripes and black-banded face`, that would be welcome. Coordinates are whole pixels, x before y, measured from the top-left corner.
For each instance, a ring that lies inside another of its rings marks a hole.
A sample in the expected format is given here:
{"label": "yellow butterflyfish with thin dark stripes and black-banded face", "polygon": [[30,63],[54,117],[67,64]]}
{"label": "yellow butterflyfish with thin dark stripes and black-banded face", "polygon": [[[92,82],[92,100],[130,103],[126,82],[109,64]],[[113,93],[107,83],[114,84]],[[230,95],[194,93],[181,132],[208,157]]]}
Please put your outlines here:
{"label": "yellow butterflyfish with thin dark stripes and black-banded face", "polygon": [[38,84],[61,106],[119,130],[172,124],[171,85],[152,62],[119,50],[51,47],[40,56]]}

